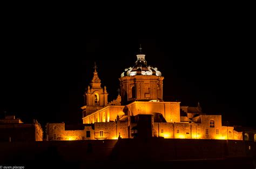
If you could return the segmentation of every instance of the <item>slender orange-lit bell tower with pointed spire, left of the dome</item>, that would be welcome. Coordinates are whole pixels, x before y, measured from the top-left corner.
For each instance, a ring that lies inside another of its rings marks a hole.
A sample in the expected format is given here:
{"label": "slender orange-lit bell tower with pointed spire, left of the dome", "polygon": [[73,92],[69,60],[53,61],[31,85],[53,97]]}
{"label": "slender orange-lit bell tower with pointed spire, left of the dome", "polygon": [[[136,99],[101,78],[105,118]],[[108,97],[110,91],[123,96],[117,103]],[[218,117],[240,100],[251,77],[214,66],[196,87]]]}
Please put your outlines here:
{"label": "slender orange-lit bell tower with pointed spire, left of the dome", "polygon": [[108,93],[106,91],[106,86],[104,86],[104,89],[101,87],[96,64],[94,69],[93,78],[84,94],[85,106],[81,107],[83,110],[83,117],[107,106]]}

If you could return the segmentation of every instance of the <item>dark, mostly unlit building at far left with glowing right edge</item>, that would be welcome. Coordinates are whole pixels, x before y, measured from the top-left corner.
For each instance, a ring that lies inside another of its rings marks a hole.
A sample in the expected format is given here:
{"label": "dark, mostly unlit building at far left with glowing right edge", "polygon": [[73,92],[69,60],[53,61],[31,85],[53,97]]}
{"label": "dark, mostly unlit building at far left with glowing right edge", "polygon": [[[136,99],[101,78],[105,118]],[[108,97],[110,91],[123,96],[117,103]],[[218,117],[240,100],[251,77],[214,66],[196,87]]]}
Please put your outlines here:
{"label": "dark, mostly unlit building at far left with glowing right edge", "polygon": [[24,124],[15,116],[0,119],[0,141],[43,141],[43,129],[37,120]]}

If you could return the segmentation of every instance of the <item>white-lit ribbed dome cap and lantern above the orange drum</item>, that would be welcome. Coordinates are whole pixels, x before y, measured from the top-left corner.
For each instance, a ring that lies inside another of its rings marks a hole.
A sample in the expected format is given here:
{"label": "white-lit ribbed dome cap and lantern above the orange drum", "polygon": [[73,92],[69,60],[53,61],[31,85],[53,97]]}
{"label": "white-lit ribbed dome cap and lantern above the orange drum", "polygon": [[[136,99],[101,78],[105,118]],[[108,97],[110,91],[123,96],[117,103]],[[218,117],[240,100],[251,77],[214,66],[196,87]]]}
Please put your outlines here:
{"label": "white-lit ribbed dome cap and lantern above the orange drum", "polygon": [[137,61],[135,62],[135,65],[125,69],[125,71],[121,74],[121,77],[135,75],[161,76],[161,72],[157,70],[157,67],[147,66],[145,55],[139,54],[137,55]]}

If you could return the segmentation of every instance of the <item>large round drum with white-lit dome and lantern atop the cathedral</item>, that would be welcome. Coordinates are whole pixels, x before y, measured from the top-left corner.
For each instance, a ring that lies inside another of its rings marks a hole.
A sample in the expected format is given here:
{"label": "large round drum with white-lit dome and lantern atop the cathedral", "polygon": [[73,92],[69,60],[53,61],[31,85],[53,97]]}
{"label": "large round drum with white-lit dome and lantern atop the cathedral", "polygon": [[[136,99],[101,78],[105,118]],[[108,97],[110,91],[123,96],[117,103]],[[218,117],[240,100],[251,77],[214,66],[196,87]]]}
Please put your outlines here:
{"label": "large round drum with white-lit dome and lantern atop the cathedral", "polygon": [[135,100],[163,101],[163,80],[157,67],[147,65],[145,55],[137,55],[137,61],[133,67],[125,69],[119,78],[122,103],[127,104]]}

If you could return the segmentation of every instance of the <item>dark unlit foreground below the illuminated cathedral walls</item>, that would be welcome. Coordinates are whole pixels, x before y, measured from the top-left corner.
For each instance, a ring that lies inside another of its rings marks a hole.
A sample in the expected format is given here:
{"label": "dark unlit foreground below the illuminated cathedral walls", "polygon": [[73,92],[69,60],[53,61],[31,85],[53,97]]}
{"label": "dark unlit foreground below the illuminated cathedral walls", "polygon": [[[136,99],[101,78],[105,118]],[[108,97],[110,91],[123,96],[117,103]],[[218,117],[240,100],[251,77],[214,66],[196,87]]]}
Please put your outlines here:
{"label": "dark unlit foreground below the illuminated cathedral walls", "polygon": [[156,138],[0,143],[0,169],[14,166],[255,169],[256,144],[235,140]]}

